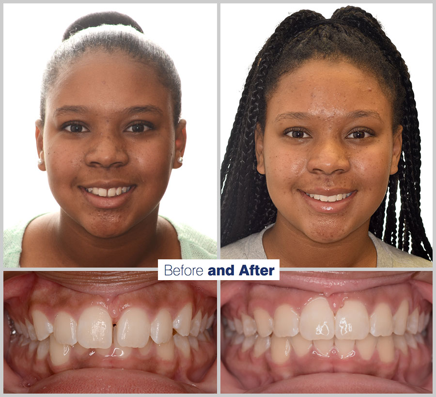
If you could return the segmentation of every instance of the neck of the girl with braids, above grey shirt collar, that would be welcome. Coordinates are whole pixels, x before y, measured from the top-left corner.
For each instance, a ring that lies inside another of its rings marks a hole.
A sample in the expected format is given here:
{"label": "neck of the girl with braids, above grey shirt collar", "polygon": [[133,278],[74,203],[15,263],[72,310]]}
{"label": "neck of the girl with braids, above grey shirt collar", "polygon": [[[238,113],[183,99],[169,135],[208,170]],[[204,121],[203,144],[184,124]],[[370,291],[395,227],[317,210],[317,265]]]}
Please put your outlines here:
{"label": "neck of the girl with braids, above grey shirt collar", "polygon": [[265,232],[263,244],[268,259],[280,259],[280,267],[375,267],[377,254],[368,228],[369,221],[339,241],[320,243],[278,216]]}

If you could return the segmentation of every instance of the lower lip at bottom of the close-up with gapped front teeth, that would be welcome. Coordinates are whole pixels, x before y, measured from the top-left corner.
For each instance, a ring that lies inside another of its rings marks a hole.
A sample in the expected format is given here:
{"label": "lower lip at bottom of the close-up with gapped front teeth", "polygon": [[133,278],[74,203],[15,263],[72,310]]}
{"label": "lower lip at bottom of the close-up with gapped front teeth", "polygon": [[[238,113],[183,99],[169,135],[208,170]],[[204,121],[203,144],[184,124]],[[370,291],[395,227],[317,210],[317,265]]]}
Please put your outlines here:
{"label": "lower lip at bottom of the close-up with gapped front teeth", "polygon": [[29,393],[200,393],[194,386],[136,369],[70,369],[35,383]]}

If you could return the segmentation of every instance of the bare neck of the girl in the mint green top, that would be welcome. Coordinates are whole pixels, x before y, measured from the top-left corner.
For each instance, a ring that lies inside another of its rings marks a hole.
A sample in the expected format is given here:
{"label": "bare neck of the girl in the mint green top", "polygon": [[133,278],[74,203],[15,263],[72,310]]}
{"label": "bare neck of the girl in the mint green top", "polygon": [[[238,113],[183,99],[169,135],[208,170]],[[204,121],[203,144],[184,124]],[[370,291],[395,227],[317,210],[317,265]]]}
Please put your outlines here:
{"label": "bare neck of the girl in the mint green top", "polygon": [[117,237],[95,237],[62,209],[52,221],[52,244],[65,267],[157,266],[158,207],[147,218]]}

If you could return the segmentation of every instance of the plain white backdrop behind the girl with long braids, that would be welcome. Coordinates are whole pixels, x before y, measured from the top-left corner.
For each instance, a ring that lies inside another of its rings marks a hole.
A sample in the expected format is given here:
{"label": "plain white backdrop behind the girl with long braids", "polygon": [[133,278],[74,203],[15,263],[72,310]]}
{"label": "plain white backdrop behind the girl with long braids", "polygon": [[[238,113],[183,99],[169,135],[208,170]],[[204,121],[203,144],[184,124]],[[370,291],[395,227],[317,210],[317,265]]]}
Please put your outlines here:
{"label": "plain white backdrop behind the girl with long braids", "polygon": [[[221,162],[251,64],[277,25],[301,9],[310,9],[330,18],[337,8],[348,4],[221,4]],[[421,132],[421,216],[432,242],[433,5],[351,5],[361,7],[381,22],[409,68]]]}

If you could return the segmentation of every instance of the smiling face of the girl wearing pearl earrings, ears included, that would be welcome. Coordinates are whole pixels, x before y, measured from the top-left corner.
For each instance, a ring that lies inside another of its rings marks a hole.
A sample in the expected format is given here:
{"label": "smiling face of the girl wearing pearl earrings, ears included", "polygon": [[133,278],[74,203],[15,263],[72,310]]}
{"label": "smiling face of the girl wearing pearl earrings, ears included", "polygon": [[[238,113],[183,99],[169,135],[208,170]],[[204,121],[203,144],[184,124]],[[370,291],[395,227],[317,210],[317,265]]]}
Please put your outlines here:
{"label": "smiling face of the girl wearing pearl earrings, ears included", "polygon": [[[122,53],[85,53],[47,94],[40,165],[62,210],[89,233],[113,237],[153,212],[178,168],[186,122],[152,67]],[[95,194],[98,193],[98,194]]]}

